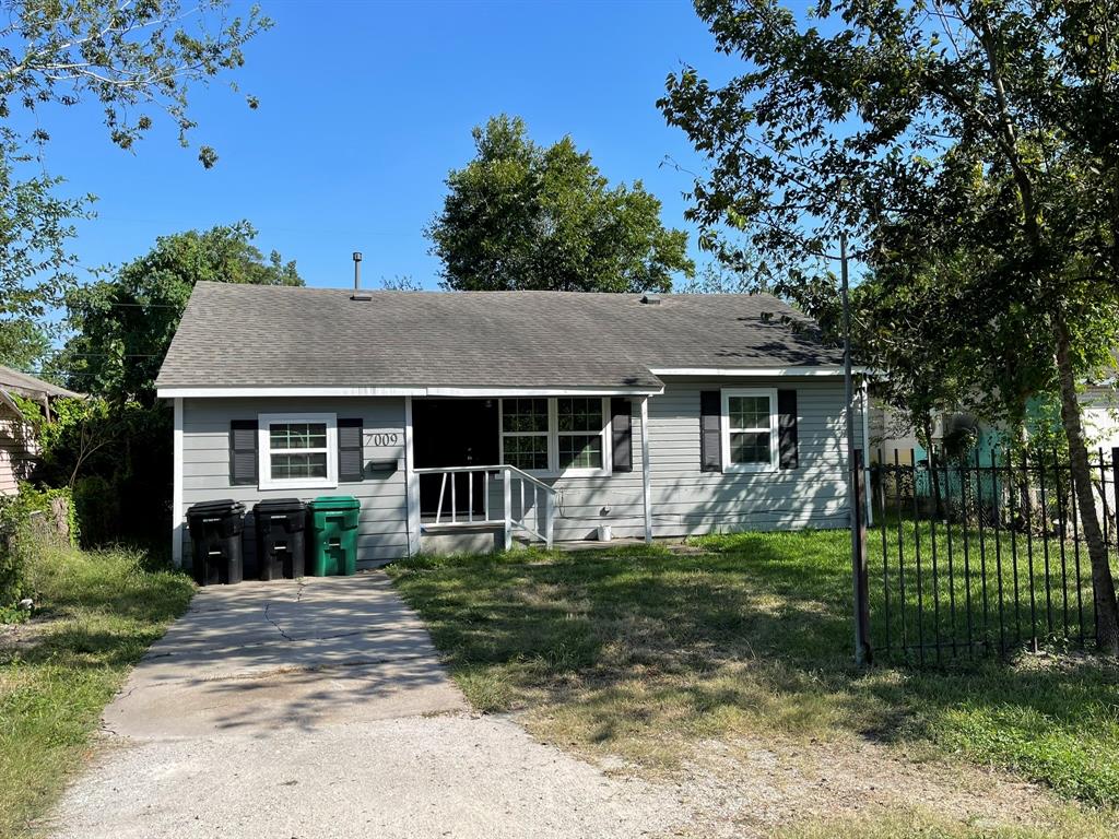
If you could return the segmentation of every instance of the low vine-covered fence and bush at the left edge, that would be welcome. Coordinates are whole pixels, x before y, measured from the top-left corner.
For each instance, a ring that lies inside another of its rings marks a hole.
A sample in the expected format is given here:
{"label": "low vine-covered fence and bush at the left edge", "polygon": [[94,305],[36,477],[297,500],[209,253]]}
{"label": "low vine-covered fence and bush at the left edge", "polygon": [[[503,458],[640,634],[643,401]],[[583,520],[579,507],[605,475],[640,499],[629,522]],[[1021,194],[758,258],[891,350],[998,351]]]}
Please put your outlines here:
{"label": "low vine-covered fence and bush at the left edge", "polygon": [[0,622],[18,618],[22,612],[15,605],[35,596],[29,576],[34,552],[73,545],[76,538],[69,490],[38,490],[25,483],[18,496],[0,499]]}

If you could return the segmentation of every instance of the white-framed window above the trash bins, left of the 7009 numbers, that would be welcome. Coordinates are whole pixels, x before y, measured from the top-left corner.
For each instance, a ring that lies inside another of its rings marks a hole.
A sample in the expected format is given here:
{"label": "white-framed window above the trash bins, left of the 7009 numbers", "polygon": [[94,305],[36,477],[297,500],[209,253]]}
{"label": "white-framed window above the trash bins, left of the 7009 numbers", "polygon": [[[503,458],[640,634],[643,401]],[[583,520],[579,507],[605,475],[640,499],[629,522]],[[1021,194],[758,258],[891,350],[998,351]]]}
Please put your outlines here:
{"label": "white-framed window above the trash bins, left of the 7009 numbers", "polygon": [[261,489],[338,486],[335,414],[261,414]]}

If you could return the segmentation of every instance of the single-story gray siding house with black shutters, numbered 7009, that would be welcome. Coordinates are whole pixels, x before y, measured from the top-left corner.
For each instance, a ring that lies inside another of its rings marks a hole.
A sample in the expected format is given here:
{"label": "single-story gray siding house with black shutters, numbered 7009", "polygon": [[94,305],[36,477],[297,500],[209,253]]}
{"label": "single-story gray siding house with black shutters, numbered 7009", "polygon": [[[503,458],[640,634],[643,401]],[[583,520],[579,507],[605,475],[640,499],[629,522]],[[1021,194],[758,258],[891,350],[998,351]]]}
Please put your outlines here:
{"label": "single-story gray siding house with black shutters, numbered 7009", "polygon": [[847,522],[841,355],[768,295],[199,283],[157,386],[177,562],[220,498],[355,496],[364,565]]}

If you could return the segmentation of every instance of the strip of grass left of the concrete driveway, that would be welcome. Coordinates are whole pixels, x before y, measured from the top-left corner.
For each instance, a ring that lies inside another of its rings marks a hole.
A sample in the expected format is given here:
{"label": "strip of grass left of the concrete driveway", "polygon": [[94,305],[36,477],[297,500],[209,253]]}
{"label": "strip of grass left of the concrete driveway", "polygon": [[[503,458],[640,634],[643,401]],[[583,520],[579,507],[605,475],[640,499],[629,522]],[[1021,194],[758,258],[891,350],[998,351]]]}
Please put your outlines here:
{"label": "strip of grass left of the concrete driveway", "polygon": [[32,581],[43,612],[0,626],[0,836],[30,832],[86,760],[128,669],[181,614],[190,579],[125,549],[45,549]]}

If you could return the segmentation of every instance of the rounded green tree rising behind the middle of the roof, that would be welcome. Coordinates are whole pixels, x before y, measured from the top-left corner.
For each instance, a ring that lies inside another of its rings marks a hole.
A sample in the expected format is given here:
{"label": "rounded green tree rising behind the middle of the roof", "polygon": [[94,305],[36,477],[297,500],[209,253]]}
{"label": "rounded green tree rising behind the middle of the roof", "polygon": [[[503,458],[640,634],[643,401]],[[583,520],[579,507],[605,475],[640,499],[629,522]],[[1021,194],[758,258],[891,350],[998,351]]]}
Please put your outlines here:
{"label": "rounded green tree rising behind the middle of the roof", "polygon": [[460,291],[668,291],[692,276],[687,234],[666,229],[640,181],[609,181],[570,136],[542,148],[518,117],[473,131],[426,233],[443,285]]}

